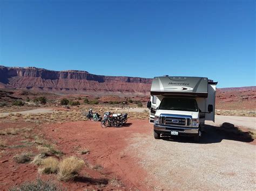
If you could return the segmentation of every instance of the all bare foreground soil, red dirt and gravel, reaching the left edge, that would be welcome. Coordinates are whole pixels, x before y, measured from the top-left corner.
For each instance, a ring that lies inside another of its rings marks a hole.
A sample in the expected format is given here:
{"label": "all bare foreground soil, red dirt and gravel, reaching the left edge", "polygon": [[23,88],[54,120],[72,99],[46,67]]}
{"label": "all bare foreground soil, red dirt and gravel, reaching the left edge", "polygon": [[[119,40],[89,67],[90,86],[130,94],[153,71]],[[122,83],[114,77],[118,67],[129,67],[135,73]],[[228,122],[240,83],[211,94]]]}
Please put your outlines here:
{"label": "all bare foreground soil, red dirt and gravel, reaching the left edge", "polygon": [[[58,182],[69,190],[99,189],[102,180],[109,182],[103,189],[256,189],[255,140],[248,139],[248,133],[226,133],[218,125],[207,125],[197,144],[185,137],[156,140],[152,135],[153,126],[147,119],[129,119],[122,128],[106,129],[92,121],[41,124],[39,127],[24,122],[0,124],[0,130],[31,126],[36,131],[26,134],[42,135],[55,144],[64,157],[78,155],[89,166],[102,167],[84,168],[83,176],[76,181]],[[34,180],[37,176],[57,181],[54,175],[38,174],[33,164],[13,161],[17,153],[37,152],[32,145],[33,136],[26,138],[26,142],[23,136],[1,136],[8,147],[0,158],[0,189]],[[79,149],[83,147],[90,153],[80,155]],[[120,180],[119,186],[111,185],[111,180]]]}

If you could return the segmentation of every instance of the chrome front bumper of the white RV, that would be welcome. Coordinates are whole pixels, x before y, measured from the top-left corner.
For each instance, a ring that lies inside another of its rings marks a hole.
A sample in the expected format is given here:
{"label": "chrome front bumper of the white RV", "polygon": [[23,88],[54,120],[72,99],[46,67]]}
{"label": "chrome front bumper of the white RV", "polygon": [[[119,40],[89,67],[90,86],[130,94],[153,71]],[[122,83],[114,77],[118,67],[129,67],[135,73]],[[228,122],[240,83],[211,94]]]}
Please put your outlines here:
{"label": "chrome front bumper of the white RV", "polygon": [[161,134],[171,135],[171,131],[178,131],[179,135],[191,135],[194,136],[198,134],[199,128],[187,128],[182,126],[164,126],[164,125],[154,125],[154,131]]}

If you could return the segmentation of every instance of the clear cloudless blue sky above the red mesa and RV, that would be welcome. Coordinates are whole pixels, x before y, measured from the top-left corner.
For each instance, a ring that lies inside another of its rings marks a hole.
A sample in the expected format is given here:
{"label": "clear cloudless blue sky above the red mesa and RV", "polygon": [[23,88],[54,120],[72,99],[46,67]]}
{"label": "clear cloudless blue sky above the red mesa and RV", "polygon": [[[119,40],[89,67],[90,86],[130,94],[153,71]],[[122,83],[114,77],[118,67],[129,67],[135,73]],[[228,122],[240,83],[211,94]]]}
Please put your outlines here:
{"label": "clear cloudless blue sky above the red mesa and RV", "polygon": [[255,1],[0,0],[0,65],[255,86]]}

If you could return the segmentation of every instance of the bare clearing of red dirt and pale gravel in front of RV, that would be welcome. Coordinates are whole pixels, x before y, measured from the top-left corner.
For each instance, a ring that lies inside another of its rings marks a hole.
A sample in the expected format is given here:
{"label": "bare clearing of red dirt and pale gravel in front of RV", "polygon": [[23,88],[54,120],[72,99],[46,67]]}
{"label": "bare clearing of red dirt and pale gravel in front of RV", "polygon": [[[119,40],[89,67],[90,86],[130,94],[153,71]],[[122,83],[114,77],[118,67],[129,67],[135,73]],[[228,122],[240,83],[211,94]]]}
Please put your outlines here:
{"label": "bare clearing of red dirt and pale gravel in front of RV", "polygon": [[156,140],[147,120],[106,129],[97,122],[70,122],[43,131],[67,155],[78,146],[89,148],[87,160],[127,189],[256,189],[254,142],[211,125],[200,144],[179,137]]}

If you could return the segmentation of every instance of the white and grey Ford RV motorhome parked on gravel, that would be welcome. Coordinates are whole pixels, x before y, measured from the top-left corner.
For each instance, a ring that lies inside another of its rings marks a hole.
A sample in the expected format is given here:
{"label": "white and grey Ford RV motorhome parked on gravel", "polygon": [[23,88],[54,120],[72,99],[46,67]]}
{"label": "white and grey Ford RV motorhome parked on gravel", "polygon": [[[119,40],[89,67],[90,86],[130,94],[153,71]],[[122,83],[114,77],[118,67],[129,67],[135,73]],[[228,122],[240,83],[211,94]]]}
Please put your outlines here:
{"label": "white and grey Ford RV motorhome parked on gravel", "polygon": [[205,120],[214,122],[216,85],[207,77],[154,77],[147,103],[154,138],[187,135],[199,142]]}

